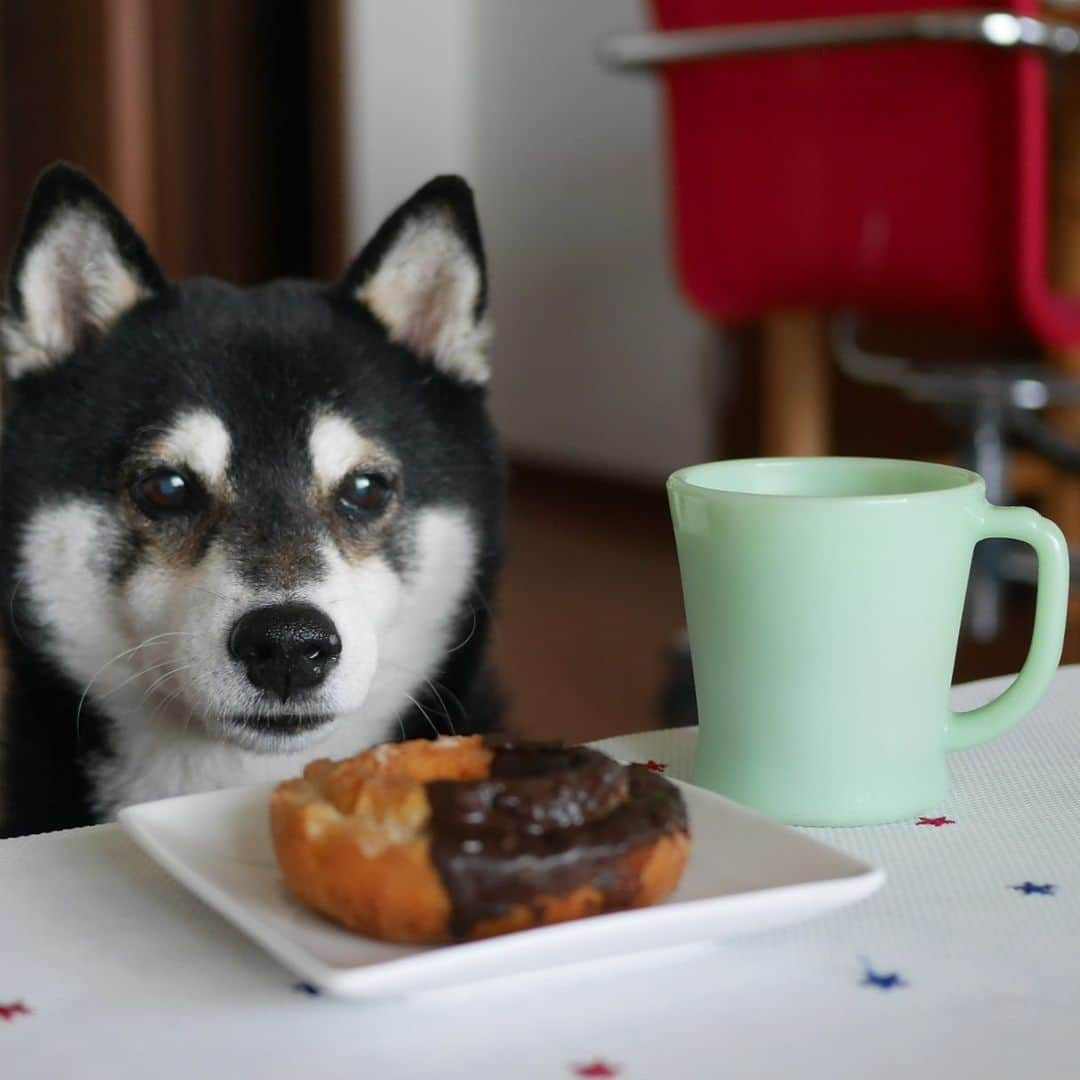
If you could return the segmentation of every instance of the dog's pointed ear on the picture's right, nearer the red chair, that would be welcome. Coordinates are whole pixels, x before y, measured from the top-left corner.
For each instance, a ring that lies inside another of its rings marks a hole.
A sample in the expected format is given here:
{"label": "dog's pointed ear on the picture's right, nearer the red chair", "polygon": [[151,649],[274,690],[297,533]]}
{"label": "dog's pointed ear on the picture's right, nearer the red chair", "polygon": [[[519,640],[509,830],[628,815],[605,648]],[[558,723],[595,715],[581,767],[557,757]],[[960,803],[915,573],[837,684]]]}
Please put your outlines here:
{"label": "dog's pointed ear on the picture's right, nearer the red chair", "polygon": [[345,278],[390,338],[463,382],[487,382],[487,276],[469,185],[437,176],[390,215]]}

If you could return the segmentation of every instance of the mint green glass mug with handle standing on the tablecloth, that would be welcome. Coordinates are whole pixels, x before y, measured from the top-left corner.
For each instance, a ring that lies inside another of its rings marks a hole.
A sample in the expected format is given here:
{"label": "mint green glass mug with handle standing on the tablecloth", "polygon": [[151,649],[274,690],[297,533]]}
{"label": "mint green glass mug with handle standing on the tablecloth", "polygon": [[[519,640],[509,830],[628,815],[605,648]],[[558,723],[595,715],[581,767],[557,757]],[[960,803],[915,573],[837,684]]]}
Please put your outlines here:
{"label": "mint green glass mug with handle standing on the tablecloth", "polygon": [[[986,501],[981,476],[873,458],[692,465],[667,481],[698,696],[693,781],[795,825],[924,813],[946,754],[1001,734],[1062,654],[1068,549],[1052,522]],[[954,714],[949,683],[978,540],[1039,559],[1015,683]]]}

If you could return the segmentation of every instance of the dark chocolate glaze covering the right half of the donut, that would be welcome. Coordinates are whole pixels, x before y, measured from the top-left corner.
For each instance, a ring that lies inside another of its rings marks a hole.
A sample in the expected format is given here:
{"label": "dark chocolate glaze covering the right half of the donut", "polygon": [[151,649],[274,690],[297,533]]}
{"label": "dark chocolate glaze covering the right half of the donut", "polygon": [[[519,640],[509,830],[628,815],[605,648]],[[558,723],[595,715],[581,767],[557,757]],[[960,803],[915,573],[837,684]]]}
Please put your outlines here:
{"label": "dark chocolate glaze covering the right half of the donut", "polygon": [[678,789],[648,769],[585,747],[490,745],[489,779],[427,788],[431,858],[456,937],[586,883],[604,894],[605,909],[625,907],[634,882],[619,856],[687,831]]}

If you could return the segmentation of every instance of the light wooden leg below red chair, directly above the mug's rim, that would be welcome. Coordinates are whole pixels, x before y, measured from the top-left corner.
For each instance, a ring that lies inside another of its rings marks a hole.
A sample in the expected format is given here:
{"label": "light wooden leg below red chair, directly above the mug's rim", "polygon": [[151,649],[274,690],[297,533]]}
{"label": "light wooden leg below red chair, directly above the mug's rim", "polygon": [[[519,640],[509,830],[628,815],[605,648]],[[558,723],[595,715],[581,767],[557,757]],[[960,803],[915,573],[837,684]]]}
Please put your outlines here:
{"label": "light wooden leg below red chair, directly above the mug's rim", "polygon": [[770,315],[762,324],[761,364],[762,453],[828,454],[831,370],[823,318],[812,311]]}

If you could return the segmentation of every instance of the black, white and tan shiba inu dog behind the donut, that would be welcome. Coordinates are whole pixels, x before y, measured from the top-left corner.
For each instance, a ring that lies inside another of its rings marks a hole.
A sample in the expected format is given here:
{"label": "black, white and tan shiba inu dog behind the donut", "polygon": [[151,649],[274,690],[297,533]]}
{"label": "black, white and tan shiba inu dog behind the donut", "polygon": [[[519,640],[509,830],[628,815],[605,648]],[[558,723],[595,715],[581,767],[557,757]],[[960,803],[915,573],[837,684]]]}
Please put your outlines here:
{"label": "black, white and tan shiba inu dog behind the donut", "polygon": [[0,835],[495,725],[486,307],[457,177],[339,282],[239,289],[42,176],[0,327]]}

